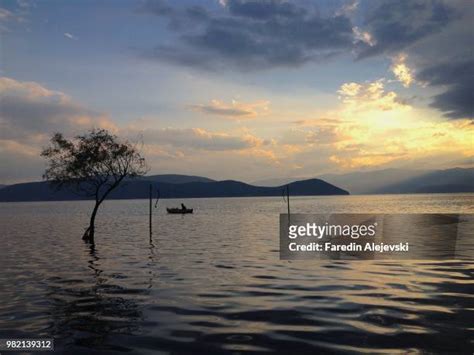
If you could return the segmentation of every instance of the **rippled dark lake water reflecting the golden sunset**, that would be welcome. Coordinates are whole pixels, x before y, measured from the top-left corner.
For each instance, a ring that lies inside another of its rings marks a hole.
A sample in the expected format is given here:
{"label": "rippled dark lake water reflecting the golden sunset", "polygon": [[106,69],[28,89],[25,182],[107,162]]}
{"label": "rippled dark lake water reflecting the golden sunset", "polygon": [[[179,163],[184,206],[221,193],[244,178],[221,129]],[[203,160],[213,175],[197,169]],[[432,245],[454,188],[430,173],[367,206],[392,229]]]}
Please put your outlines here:
{"label": "rippled dark lake water reflecting the golden sunset", "polygon": [[[184,202],[193,215],[166,215]],[[474,194],[301,197],[292,212],[473,213]],[[281,198],[0,204],[0,338],[56,352],[465,353],[472,261],[280,261]],[[474,255],[474,251],[472,254]]]}

